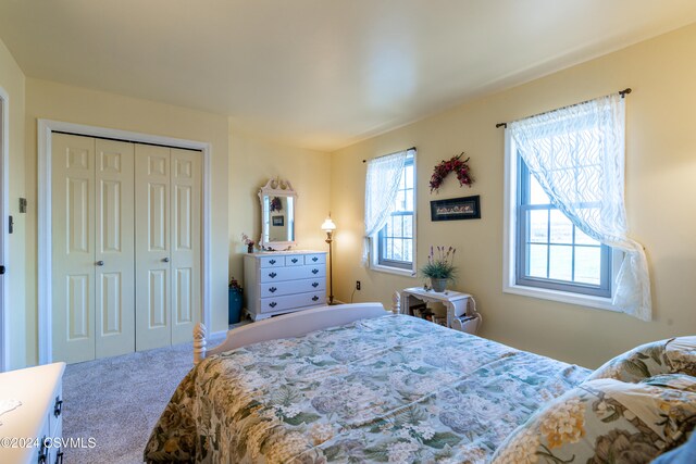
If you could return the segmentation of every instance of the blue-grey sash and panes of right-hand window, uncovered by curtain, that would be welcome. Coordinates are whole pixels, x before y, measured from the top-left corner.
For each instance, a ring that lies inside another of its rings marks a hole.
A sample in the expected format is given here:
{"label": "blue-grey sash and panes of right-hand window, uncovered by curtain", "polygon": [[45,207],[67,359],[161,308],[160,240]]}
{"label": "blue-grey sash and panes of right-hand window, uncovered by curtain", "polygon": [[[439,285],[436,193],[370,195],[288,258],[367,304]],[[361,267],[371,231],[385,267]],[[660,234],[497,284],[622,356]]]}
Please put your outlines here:
{"label": "blue-grey sash and panes of right-hand window, uncovered by curtain", "polygon": [[[522,156],[515,155],[519,174],[515,284],[611,297],[611,249],[588,237],[551,204]],[[583,206],[598,213],[596,202]]]}

